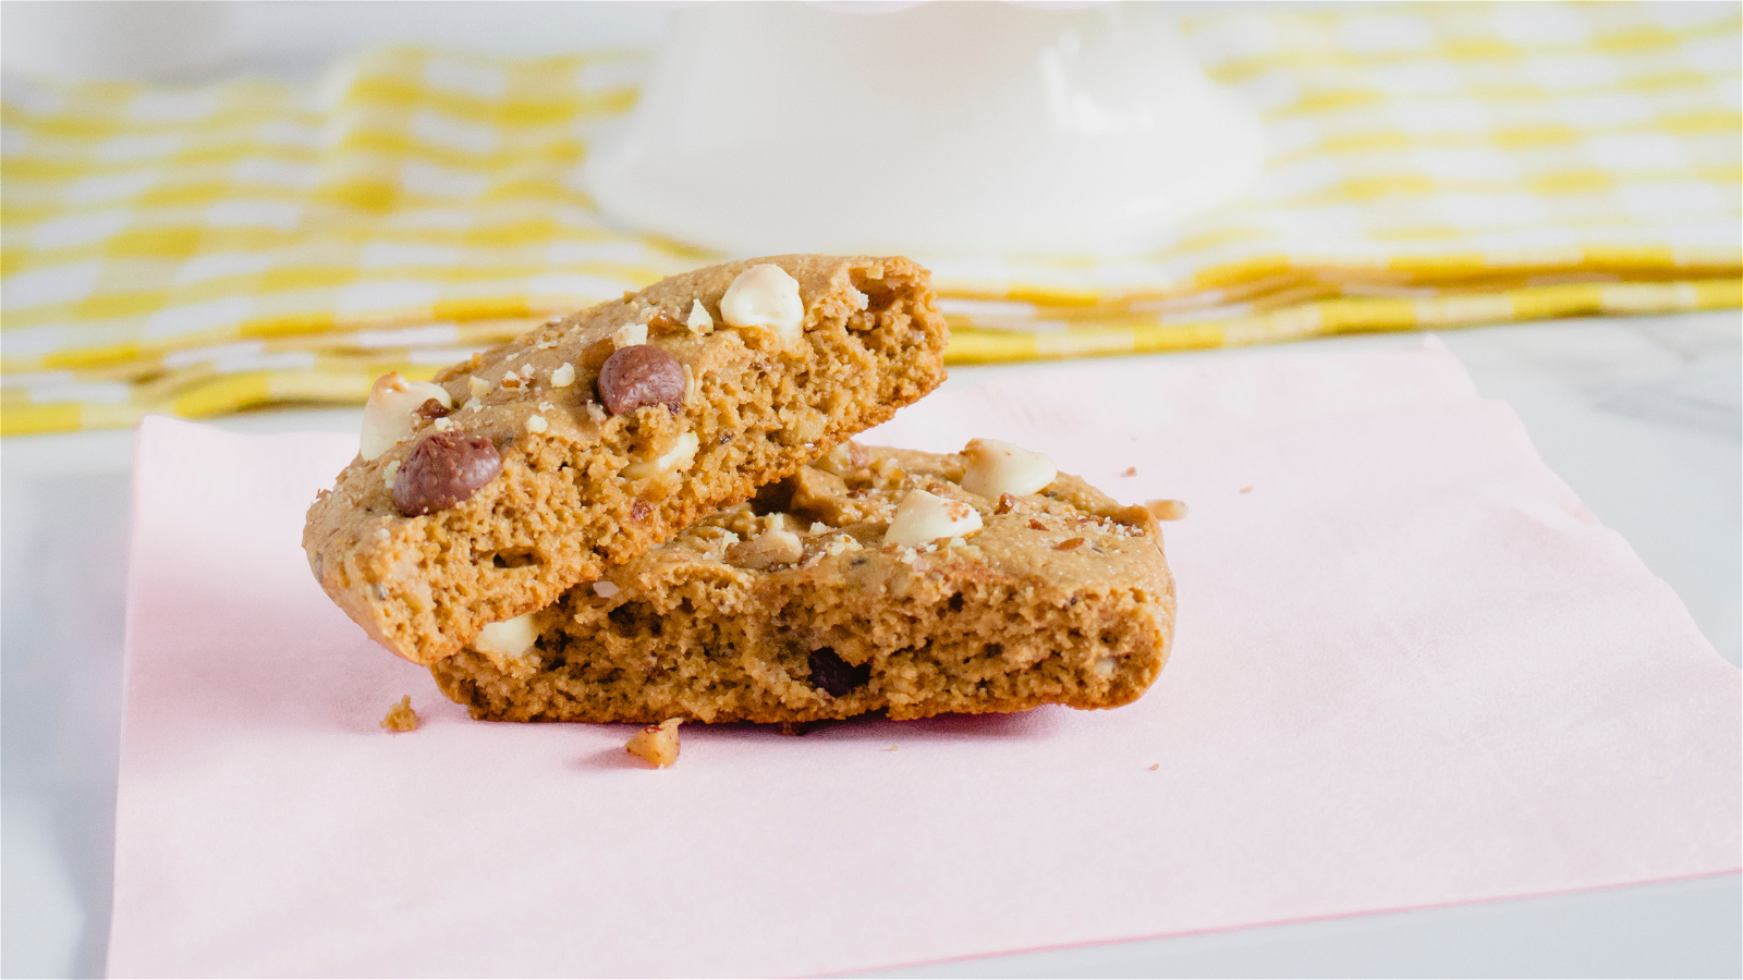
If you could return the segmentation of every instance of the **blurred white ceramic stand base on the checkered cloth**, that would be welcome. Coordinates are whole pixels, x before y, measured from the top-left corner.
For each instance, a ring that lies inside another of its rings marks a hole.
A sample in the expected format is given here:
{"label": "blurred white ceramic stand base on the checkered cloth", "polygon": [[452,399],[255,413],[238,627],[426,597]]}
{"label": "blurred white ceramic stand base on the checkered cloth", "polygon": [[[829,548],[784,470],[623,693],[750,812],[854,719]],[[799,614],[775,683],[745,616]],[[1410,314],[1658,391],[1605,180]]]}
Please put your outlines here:
{"label": "blurred white ceramic stand base on the checkered cloth", "polygon": [[584,181],[732,255],[1128,255],[1238,197],[1251,108],[1161,3],[704,3]]}

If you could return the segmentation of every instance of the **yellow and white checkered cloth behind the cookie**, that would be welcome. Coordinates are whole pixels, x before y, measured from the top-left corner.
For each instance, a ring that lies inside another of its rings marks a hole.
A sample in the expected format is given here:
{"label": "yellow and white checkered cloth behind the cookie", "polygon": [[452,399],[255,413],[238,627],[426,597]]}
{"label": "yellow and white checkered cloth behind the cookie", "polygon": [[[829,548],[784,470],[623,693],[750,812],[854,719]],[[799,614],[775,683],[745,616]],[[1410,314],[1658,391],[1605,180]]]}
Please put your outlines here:
{"label": "yellow and white checkered cloth behind the cookie", "polygon": [[[1743,7],[1187,17],[1243,202],[1124,262],[933,262],[957,363],[1743,305]],[[577,187],[638,54],[390,49],[321,85],[7,82],[0,431],[361,403],[715,256]],[[922,262],[926,256],[917,256]]]}

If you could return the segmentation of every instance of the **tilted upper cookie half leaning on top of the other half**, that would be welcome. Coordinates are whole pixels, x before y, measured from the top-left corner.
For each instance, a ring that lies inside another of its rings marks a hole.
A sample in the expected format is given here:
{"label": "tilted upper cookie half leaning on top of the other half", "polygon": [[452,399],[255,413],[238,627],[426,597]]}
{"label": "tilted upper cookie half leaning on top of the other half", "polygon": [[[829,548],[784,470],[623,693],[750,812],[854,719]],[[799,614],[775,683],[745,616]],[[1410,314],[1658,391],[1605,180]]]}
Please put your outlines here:
{"label": "tilted upper cookie half leaning on top of the other half", "polygon": [[370,636],[429,664],[889,419],[943,380],[946,338],[905,258],[666,279],[434,382],[382,378],[303,549]]}

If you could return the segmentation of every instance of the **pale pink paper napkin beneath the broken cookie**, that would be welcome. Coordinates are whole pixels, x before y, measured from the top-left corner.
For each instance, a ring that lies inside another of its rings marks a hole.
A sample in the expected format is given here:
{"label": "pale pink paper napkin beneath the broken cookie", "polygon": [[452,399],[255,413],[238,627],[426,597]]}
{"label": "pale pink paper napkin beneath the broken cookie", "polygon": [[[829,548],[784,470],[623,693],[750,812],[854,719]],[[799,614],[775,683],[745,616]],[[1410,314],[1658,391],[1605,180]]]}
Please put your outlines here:
{"label": "pale pink paper napkin beneath the broken cookie", "polygon": [[1156,687],[648,771],[469,720],[321,595],[352,439],[148,420],[110,973],[807,975],[1743,863],[1738,671],[1440,345],[1037,370],[868,441],[980,434],[1187,500]]}

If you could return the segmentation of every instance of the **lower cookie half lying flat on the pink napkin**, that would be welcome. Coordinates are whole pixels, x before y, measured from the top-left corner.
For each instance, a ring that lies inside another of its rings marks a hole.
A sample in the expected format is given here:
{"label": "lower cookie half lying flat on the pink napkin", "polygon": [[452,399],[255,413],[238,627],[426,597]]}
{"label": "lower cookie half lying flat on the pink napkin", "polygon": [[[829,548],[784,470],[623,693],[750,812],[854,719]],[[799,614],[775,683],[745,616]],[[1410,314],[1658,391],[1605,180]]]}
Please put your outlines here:
{"label": "lower cookie half lying flat on the pink napkin", "polygon": [[849,443],[431,673],[495,720],[1114,708],[1173,619],[1147,509],[1016,446]]}

